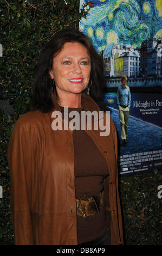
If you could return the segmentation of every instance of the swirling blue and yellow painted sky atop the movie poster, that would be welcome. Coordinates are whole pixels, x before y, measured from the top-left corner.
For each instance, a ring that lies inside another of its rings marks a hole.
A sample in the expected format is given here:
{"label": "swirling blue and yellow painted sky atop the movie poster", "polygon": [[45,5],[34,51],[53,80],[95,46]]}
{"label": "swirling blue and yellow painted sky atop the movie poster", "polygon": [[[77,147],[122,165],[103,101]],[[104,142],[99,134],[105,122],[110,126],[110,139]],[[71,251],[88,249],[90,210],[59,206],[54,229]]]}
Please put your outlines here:
{"label": "swirling blue and yellow painted sky atop the movie poster", "polygon": [[[86,3],[80,0],[80,5]],[[148,38],[162,37],[162,0],[92,0],[80,31],[88,35],[99,52],[115,44],[140,47]]]}

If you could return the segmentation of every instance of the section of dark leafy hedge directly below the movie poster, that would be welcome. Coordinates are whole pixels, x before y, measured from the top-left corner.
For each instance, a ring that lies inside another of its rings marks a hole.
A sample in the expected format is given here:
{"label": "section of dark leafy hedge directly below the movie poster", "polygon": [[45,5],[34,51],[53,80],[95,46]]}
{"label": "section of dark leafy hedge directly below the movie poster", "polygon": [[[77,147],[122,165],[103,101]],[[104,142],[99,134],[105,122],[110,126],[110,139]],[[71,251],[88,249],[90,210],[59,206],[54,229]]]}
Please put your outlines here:
{"label": "section of dark leafy hedge directly below the movie poster", "polygon": [[162,245],[160,184],[162,171],[156,169],[120,179],[126,245]]}

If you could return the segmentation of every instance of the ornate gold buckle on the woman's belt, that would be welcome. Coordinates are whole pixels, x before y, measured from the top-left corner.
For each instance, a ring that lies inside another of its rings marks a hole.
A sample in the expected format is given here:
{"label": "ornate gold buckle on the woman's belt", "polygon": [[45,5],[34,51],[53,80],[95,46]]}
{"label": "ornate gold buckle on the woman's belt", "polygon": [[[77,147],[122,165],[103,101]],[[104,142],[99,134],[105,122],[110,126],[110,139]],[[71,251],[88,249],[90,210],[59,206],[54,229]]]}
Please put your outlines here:
{"label": "ornate gold buckle on the woman's belt", "polygon": [[[83,198],[87,198],[89,202],[94,202],[94,203],[95,203],[96,212],[94,212],[93,215],[91,215],[91,216],[87,216],[87,215],[86,215],[86,209],[85,209],[84,206],[82,205],[82,199],[83,199]],[[86,196],[86,194],[83,194],[83,196],[80,197],[80,199],[79,199],[79,204],[78,204],[78,206],[77,206],[77,211],[78,211],[79,214],[82,215],[83,218],[86,218],[87,221],[92,221],[92,220],[94,220],[96,213],[99,212],[99,208],[98,208],[98,205],[97,205],[96,202],[95,202],[94,197],[88,197],[88,196]]]}

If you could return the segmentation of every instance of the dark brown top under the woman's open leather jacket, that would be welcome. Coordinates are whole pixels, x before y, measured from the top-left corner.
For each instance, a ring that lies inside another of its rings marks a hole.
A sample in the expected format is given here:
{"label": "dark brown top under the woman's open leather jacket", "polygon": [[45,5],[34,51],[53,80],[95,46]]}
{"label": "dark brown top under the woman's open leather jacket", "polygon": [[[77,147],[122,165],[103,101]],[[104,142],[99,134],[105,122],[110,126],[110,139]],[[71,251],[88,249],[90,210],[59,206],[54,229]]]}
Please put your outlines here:
{"label": "dark brown top under the woman's open leather jacket", "polygon": [[[63,107],[61,110],[63,111]],[[82,108],[68,108],[69,112],[81,113],[81,110]],[[79,198],[83,194],[94,196],[103,190],[103,179],[109,174],[105,157],[84,130],[73,131],[73,144],[76,197]],[[93,221],[86,221],[85,218],[77,216],[78,243],[97,239],[104,233],[107,224],[105,204],[101,206]]]}

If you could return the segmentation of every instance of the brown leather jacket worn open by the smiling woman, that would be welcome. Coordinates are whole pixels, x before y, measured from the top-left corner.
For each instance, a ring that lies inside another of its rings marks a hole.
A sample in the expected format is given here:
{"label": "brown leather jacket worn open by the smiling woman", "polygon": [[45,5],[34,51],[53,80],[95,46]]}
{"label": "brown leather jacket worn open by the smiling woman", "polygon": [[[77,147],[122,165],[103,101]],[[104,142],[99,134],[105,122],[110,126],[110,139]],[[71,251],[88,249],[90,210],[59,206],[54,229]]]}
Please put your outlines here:
{"label": "brown leather jacket worn open by the smiling woman", "polygon": [[[55,110],[59,110],[56,96]],[[82,94],[83,108],[99,111]],[[51,112],[52,113],[52,112]],[[11,217],[15,245],[77,245],[73,131],[51,129],[51,113],[28,112],[17,120],[8,147],[11,174]],[[117,174],[117,136],[86,130],[105,156],[109,176],[104,183],[111,244],[123,243]]]}

